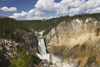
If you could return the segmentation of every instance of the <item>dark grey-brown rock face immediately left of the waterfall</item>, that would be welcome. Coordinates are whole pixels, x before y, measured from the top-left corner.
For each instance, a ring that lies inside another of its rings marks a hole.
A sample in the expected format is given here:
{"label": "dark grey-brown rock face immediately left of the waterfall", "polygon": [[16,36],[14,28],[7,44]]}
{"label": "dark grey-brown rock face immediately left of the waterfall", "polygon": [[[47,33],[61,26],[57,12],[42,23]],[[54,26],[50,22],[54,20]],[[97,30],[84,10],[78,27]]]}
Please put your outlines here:
{"label": "dark grey-brown rock face immediately left of the waterfall", "polygon": [[38,53],[38,40],[37,37],[30,32],[25,32],[23,30],[16,30],[15,34],[19,37],[22,37],[26,44],[23,45],[28,52],[33,54]]}

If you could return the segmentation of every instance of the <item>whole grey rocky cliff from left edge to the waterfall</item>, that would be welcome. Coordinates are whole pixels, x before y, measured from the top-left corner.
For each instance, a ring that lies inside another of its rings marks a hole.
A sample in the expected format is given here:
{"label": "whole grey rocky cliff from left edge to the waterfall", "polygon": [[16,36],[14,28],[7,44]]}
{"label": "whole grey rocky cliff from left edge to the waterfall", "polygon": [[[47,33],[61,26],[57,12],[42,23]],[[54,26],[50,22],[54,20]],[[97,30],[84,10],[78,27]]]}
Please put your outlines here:
{"label": "whole grey rocky cliff from left edge to the waterfall", "polygon": [[[17,43],[13,40],[0,38],[0,56],[2,54],[6,57],[5,59],[11,60],[15,50],[21,52],[22,48],[24,48],[28,53],[33,55],[37,55],[38,51],[38,40],[37,37],[29,32],[16,30],[15,34],[20,38],[24,39],[24,43]],[[1,59],[1,58],[0,58]]]}

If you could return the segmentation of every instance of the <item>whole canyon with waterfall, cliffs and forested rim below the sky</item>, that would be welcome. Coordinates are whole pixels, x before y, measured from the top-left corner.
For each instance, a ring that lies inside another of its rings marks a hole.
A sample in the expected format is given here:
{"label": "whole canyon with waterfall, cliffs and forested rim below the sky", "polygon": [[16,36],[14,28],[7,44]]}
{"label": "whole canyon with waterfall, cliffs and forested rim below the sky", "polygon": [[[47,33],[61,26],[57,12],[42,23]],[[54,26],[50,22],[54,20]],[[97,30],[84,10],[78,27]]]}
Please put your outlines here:
{"label": "whole canyon with waterfall, cliffs and forested rim below the sky", "polygon": [[100,20],[99,14],[94,15],[45,21],[0,18],[2,67],[9,67],[16,50],[20,58],[22,49],[33,56],[35,67],[100,67]]}

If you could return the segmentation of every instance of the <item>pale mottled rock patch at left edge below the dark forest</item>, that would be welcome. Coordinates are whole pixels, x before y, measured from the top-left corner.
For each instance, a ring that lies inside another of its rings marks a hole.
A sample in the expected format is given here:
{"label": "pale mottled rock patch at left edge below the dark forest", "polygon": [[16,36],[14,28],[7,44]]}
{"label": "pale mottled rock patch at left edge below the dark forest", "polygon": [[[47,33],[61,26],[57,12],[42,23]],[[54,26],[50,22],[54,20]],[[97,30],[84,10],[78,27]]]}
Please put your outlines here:
{"label": "pale mottled rock patch at left edge below the dark forest", "polygon": [[0,39],[0,51],[9,61],[12,59],[14,51],[21,49],[23,43],[16,43],[13,40]]}

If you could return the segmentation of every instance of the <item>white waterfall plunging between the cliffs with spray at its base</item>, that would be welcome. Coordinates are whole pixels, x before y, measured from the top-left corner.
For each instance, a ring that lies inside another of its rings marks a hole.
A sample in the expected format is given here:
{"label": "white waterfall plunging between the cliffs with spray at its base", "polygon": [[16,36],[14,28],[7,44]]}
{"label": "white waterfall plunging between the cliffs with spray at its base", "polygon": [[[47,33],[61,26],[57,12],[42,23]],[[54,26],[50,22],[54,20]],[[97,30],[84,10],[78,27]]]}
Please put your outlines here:
{"label": "white waterfall plunging between the cliffs with spray at its base", "polygon": [[42,36],[42,34],[37,34],[36,33],[36,36],[38,37],[38,50],[40,52],[40,54],[37,54],[38,57],[40,59],[47,59],[48,61],[50,61],[50,54],[52,56],[52,63],[55,63],[56,61],[60,61],[60,58],[53,55],[52,53],[47,53],[46,52],[46,47],[45,47],[45,42],[44,42],[44,38]]}

